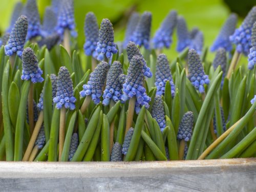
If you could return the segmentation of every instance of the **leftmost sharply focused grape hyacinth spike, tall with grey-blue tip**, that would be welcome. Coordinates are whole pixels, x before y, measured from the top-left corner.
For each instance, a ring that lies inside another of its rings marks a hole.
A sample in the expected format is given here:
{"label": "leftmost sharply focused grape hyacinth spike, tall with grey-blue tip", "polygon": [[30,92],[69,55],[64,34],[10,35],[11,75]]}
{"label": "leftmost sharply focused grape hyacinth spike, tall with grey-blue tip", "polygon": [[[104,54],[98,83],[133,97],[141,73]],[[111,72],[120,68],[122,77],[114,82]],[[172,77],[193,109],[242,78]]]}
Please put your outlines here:
{"label": "leftmost sharply focused grape hyacinth spike, tall with grey-blue tip", "polygon": [[28,31],[28,18],[24,15],[18,17],[9,40],[5,45],[5,54],[12,56],[17,53],[19,57],[22,57],[23,47],[26,41]]}

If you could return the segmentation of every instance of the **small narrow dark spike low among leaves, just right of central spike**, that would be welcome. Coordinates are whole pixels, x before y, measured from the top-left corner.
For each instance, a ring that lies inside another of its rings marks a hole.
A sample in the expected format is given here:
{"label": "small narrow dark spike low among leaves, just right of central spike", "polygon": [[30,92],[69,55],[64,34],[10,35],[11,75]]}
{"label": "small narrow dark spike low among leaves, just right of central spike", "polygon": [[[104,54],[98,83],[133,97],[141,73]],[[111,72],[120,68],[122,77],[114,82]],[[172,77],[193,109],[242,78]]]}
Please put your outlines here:
{"label": "small narrow dark spike low among leaves, just right of central spike", "polygon": [[153,106],[152,106],[152,111],[151,111],[152,117],[156,119],[161,132],[165,128],[165,114],[164,114],[164,105],[163,105],[163,100],[162,97],[159,95],[156,95]]}

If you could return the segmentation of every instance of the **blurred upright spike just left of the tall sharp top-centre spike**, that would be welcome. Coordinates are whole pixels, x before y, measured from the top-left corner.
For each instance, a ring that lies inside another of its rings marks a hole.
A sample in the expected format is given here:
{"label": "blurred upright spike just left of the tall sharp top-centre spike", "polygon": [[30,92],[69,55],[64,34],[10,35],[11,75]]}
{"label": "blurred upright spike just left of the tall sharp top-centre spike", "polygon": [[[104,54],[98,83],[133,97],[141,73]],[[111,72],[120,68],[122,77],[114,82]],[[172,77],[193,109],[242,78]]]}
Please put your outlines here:
{"label": "blurred upright spike just left of the tall sharp top-centre spike", "polygon": [[86,42],[83,45],[83,50],[86,55],[92,55],[97,57],[97,42],[99,39],[99,26],[97,24],[97,18],[93,12],[89,12],[86,15],[84,21],[84,33],[86,34]]}

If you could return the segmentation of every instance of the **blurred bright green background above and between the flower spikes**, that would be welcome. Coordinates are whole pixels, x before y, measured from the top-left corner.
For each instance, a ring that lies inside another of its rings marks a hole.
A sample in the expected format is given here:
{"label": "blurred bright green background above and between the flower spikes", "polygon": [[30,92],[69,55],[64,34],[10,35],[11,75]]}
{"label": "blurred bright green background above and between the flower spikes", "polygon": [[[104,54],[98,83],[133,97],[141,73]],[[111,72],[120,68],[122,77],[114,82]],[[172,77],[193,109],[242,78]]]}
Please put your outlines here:
{"label": "blurred bright green background above and between the flower spikes", "polygon": [[[13,6],[18,1],[20,0],[1,1],[1,32],[4,32],[8,27]],[[26,0],[22,2],[25,3]],[[89,11],[93,11],[96,14],[99,24],[102,18],[108,17],[114,25],[115,41],[121,41],[124,37],[127,19],[133,10],[140,13],[147,10],[153,13],[151,33],[153,36],[169,10],[176,9],[178,14],[185,17],[189,30],[196,26],[203,31],[205,46],[209,47],[218,35],[225,19],[230,14],[230,9],[244,16],[256,3],[255,0],[225,0],[225,2],[226,3],[221,0],[74,0],[78,46],[82,49],[84,43],[84,17]],[[239,2],[240,4],[243,2],[243,4],[240,5]],[[45,8],[51,4],[51,0],[37,0],[37,3],[40,16],[42,17]],[[166,53],[170,59],[177,56],[175,51],[176,42],[175,33],[170,50],[164,50],[164,53]],[[209,55],[210,58],[213,56],[213,54]]]}

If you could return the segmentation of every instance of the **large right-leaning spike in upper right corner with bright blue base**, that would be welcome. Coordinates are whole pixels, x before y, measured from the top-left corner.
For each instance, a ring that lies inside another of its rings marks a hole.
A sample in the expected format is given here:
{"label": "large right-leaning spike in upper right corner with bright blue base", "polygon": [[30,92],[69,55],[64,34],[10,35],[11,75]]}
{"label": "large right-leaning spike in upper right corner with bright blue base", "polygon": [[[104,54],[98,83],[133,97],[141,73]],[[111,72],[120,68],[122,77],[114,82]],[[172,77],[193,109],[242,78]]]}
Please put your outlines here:
{"label": "large right-leaning spike in upper right corner with bright blue base", "polygon": [[251,31],[254,22],[256,22],[256,6],[247,14],[242,25],[229,37],[230,41],[236,44],[237,52],[246,56],[251,48]]}

